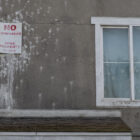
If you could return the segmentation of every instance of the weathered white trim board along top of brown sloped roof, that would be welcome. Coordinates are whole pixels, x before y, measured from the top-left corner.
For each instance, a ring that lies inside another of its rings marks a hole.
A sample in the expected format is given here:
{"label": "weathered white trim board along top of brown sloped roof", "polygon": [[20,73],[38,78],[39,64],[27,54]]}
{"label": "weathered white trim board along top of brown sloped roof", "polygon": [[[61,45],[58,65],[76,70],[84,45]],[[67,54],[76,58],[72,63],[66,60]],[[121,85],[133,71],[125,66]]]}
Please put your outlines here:
{"label": "weathered white trim board along top of brown sloped roof", "polygon": [[121,117],[119,110],[0,110],[1,117]]}

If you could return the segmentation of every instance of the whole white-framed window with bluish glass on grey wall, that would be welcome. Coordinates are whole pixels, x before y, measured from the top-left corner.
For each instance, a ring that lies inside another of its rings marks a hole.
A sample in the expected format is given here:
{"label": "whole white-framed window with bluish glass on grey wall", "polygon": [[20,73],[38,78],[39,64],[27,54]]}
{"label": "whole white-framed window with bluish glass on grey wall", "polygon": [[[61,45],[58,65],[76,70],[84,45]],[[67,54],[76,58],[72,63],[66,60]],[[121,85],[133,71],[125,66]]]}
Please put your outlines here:
{"label": "whole white-framed window with bluish glass on grey wall", "polygon": [[92,17],[96,105],[140,107],[140,18]]}

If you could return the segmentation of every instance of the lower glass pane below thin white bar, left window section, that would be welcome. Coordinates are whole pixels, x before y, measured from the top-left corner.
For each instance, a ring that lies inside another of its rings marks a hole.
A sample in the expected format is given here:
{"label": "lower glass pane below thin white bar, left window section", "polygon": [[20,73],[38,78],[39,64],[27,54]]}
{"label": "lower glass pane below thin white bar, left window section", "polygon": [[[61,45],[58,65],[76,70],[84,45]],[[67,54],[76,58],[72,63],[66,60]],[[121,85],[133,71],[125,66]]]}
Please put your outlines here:
{"label": "lower glass pane below thin white bar, left window section", "polygon": [[105,98],[129,98],[130,78],[129,63],[104,64]]}

